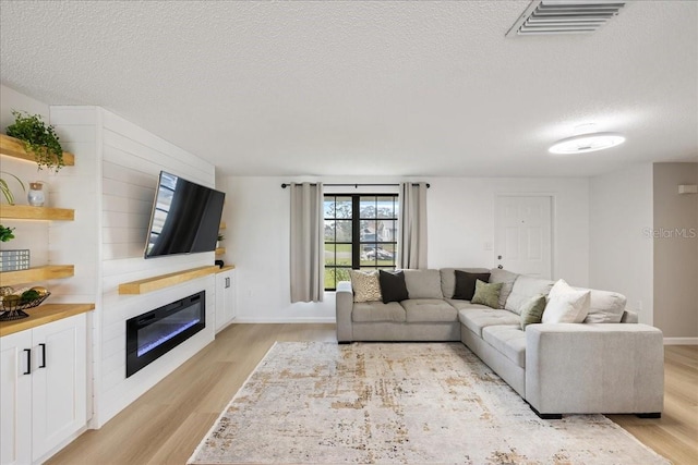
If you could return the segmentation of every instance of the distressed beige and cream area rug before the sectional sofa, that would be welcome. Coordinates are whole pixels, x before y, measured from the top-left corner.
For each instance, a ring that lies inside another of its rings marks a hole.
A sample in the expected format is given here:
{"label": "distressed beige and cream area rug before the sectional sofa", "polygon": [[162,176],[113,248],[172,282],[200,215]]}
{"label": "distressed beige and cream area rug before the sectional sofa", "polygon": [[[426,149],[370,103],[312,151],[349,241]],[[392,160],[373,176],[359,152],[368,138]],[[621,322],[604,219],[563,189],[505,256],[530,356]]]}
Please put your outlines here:
{"label": "distressed beige and cream area rug before the sectional sofa", "polygon": [[602,415],[540,419],[460,343],[306,342],[269,350],[189,463],[669,462]]}

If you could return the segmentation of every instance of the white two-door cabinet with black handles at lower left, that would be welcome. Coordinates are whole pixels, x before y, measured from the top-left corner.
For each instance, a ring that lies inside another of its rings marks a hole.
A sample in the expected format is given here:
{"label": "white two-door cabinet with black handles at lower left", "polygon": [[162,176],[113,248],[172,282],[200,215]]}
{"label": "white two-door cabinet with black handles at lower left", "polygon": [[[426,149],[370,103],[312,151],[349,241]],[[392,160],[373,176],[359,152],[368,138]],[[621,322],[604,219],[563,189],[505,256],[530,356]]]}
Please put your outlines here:
{"label": "white two-door cabinet with black handles at lower left", "polygon": [[0,463],[47,458],[87,424],[87,316],[0,338]]}

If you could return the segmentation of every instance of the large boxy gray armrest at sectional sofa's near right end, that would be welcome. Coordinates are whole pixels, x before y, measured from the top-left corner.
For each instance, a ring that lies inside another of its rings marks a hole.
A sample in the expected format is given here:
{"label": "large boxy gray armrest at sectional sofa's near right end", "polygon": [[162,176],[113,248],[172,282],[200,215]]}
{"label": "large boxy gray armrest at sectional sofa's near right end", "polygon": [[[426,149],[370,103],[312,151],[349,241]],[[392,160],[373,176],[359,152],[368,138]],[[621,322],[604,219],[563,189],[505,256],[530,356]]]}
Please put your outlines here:
{"label": "large boxy gray armrest at sectional sofa's near right end", "polygon": [[661,413],[663,344],[640,323],[528,326],[526,401],[551,415]]}

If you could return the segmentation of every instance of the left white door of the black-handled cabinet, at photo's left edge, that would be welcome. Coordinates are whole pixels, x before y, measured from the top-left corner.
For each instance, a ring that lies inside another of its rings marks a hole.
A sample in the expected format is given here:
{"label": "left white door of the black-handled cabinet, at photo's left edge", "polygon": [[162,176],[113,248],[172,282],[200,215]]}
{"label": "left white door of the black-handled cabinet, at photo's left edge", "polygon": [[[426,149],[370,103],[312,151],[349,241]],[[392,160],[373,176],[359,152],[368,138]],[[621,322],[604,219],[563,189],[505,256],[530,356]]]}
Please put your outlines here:
{"label": "left white door of the black-handled cabinet, at photo's left edge", "polygon": [[32,331],[0,338],[0,464],[32,463]]}

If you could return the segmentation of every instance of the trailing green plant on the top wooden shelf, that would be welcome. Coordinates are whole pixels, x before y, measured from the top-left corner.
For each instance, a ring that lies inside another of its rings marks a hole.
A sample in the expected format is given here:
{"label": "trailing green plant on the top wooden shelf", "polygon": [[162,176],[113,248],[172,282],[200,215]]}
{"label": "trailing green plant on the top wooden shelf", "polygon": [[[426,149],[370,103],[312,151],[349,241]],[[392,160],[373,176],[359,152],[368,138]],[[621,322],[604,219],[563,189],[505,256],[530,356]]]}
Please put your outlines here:
{"label": "trailing green plant on the top wooden shelf", "polygon": [[46,124],[40,114],[29,114],[26,111],[12,110],[14,124],[8,126],[8,135],[24,143],[24,149],[34,154],[39,170],[43,167],[52,168],[58,172],[64,167],[63,149],[56,134],[55,127]]}

